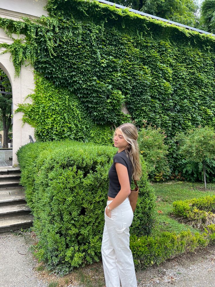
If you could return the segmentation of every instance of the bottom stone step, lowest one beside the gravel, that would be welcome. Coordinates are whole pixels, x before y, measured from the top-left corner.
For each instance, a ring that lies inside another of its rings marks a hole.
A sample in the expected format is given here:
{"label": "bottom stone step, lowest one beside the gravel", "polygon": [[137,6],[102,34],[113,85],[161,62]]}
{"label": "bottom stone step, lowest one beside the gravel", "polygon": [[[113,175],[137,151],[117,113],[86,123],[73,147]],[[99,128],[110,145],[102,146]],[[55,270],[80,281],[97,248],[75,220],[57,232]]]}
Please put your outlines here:
{"label": "bottom stone step, lowest one beside the gravel", "polygon": [[33,224],[32,215],[0,218],[0,233],[20,228],[29,228]]}

